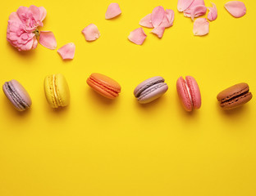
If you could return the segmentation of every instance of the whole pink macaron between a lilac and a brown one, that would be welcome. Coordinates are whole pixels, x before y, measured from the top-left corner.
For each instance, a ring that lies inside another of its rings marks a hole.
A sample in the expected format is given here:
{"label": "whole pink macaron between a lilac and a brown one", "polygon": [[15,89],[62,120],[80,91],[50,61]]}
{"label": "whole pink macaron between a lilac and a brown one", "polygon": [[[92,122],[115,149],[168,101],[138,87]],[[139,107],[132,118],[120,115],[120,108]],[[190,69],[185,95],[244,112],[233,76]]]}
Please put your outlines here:
{"label": "whole pink macaron between a lilac and a brown one", "polygon": [[180,77],[176,82],[178,96],[181,104],[188,112],[201,107],[201,94],[199,85],[192,76]]}

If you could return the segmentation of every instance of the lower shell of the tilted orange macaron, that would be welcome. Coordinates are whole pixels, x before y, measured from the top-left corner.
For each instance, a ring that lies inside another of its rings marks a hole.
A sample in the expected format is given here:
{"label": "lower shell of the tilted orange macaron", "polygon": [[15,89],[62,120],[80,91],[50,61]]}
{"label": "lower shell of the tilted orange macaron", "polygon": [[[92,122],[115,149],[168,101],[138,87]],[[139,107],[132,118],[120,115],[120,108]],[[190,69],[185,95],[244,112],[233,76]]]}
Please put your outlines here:
{"label": "lower shell of the tilted orange macaron", "polygon": [[102,95],[108,99],[115,99],[118,96],[117,92],[107,89],[103,85],[101,85],[97,82],[94,82],[94,80],[92,80],[90,78],[88,78],[86,82],[89,85],[89,87],[92,87],[92,89],[94,89],[94,91],[97,91],[100,95]]}

